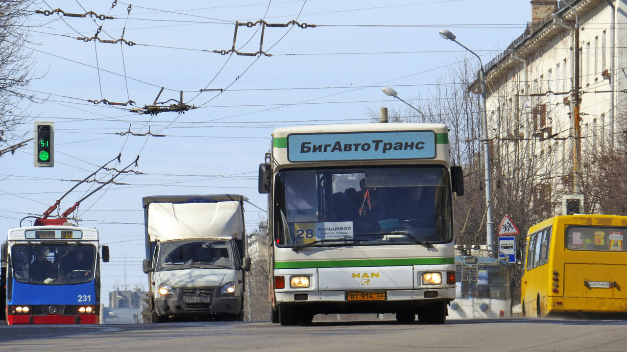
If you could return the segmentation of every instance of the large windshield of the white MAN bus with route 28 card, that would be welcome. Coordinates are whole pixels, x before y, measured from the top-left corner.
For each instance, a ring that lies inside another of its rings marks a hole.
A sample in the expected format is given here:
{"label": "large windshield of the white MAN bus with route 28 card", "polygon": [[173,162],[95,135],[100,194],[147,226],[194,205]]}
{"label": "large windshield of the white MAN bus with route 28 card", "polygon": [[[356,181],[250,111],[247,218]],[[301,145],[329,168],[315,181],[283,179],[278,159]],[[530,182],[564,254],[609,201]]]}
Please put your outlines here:
{"label": "large windshield of the white MAN bus with route 28 card", "polygon": [[427,244],[453,239],[451,186],[440,165],[282,170],[278,245]]}

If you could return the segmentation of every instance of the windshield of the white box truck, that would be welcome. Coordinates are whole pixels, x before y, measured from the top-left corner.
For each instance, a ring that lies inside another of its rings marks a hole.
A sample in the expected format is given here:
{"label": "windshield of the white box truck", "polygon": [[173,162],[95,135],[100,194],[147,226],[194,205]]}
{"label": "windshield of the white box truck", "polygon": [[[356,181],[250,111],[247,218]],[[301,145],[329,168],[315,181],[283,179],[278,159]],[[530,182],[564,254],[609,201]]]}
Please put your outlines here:
{"label": "windshield of the white box truck", "polygon": [[162,242],[157,271],[177,269],[233,267],[228,242],[187,240]]}

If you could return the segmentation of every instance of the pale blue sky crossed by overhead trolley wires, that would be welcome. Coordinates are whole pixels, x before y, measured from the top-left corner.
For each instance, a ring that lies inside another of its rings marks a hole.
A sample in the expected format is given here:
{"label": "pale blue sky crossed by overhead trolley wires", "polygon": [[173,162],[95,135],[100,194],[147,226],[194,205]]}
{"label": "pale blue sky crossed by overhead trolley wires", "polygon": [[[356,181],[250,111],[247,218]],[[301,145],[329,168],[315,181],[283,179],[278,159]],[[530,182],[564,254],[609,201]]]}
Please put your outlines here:
{"label": "pale blue sky crossed by overhead trolley wires", "polygon": [[[252,230],[265,219],[257,172],[274,128],[371,122],[370,111],[381,106],[405,108],[382,93],[385,86],[420,106],[416,97],[461,60],[478,68],[440,29],[487,63],[522,34],[530,7],[529,0],[41,1],[33,10],[48,12],[28,17],[25,48],[33,80],[24,93],[36,101],[19,105],[28,118],[14,133],[33,138],[34,122],[54,122],[55,166],[34,167],[32,142],[0,157],[0,229],[43,214],[76,180],[121,153],[108,166],[132,165],[134,172],[120,174],[71,216],[100,230],[110,247],[111,261],[101,265],[103,303],[113,289],[147,289],[142,197],[243,194]],[[300,26],[266,26],[262,42],[260,19]],[[220,53],[232,48],[236,22],[249,23],[237,26],[237,52],[263,53]],[[96,34],[117,43],[89,40]],[[177,103],[181,91],[194,107],[185,113],[132,111]],[[96,187],[76,187],[61,200],[61,213]]]}

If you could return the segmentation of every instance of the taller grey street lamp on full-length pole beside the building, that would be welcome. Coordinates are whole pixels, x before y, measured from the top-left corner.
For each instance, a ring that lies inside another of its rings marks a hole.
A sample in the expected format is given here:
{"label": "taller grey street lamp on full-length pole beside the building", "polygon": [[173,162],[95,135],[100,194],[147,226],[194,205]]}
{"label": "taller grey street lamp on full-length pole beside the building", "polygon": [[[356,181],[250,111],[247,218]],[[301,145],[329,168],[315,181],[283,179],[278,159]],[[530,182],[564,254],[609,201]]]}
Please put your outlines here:
{"label": "taller grey street lamp on full-length pole beside the building", "polygon": [[[490,179],[490,143],[488,142],[488,118],[486,115],[486,107],[485,107],[485,71],[483,71],[483,62],[481,61],[481,58],[479,57],[479,55],[477,55],[474,51],[472,51],[471,49],[466,48],[466,46],[464,46],[463,44],[461,44],[460,42],[456,41],[455,38],[457,38],[455,36],[455,34],[451,33],[451,31],[449,31],[448,29],[442,29],[440,31],[440,36],[442,36],[442,38],[444,39],[449,39],[451,41],[454,41],[455,43],[459,44],[462,48],[470,51],[471,54],[477,56],[477,58],[479,59],[479,71],[481,73],[479,79],[481,81],[481,125],[483,128],[483,163],[484,163],[484,168],[485,168],[485,205],[487,207],[486,212],[485,212],[485,229],[487,232],[487,241],[488,242],[488,249],[492,249],[492,246],[494,244],[494,229],[493,229],[493,223],[492,223],[492,202],[490,202],[490,200],[492,200],[492,180]],[[493,252],[494,253],[494,252]]]}

